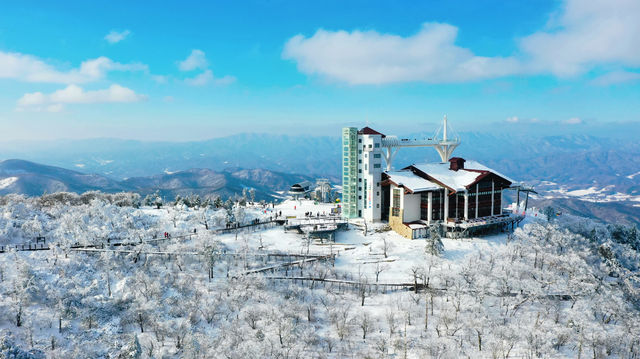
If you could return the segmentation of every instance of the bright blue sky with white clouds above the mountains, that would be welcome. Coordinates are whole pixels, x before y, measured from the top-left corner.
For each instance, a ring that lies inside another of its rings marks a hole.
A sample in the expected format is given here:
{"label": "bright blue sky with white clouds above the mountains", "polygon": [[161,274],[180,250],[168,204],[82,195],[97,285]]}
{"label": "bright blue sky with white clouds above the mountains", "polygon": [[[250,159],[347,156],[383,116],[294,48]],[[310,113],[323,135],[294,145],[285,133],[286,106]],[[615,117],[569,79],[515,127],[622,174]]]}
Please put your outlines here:
{"label": "bright blue sky with white clouds above the mountains", "polygon": [[0,141],[640,121],[640,3],[0,5]]}

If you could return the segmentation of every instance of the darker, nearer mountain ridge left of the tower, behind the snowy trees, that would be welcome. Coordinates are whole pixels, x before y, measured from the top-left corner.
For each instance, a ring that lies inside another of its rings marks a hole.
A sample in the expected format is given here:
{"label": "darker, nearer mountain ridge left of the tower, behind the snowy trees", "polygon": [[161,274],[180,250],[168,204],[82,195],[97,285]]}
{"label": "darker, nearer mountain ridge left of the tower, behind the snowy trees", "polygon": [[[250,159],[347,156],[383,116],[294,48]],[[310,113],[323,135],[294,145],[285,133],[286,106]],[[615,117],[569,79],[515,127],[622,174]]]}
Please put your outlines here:
{"label": "darker, nearer mountain ridge left of the tower, behind the snowy trees", "polygon": [[221,172],[189,169],[116,181],[102,175],[84,174],[24,160],[0,162],[1,195],[18,193],[39,196],[61,191],[82,193],[97,190],[109,193],[130,191],[142,195],[159,191],[171,199],[176,195],[189,194],[226,198],[242,193],[244,188],[254,188],[256,199],[271,200],[278,196],[277,191],[287,190],[295,182],[310,179],[264,169],[237,168]]}

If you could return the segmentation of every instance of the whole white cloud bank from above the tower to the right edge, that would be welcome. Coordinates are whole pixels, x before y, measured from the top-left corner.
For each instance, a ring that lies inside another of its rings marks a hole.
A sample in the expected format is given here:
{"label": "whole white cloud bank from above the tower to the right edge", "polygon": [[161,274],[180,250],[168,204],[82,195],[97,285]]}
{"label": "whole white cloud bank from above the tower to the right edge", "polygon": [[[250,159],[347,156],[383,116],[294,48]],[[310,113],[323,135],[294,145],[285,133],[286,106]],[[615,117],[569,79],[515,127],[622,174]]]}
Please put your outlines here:
{"label": "whole white cloud bank from above the tower to the right edge", "polygon": [[442,23],[425,23],[406,37],[320,29],[289,39],[282,57],[303,73],[348,84],[568,77],[599,66],[640,66],[640,1],[565,0],[551,19],[544,30],[520,39],[508,57],[479,56],[456,45],[458,29]]}

